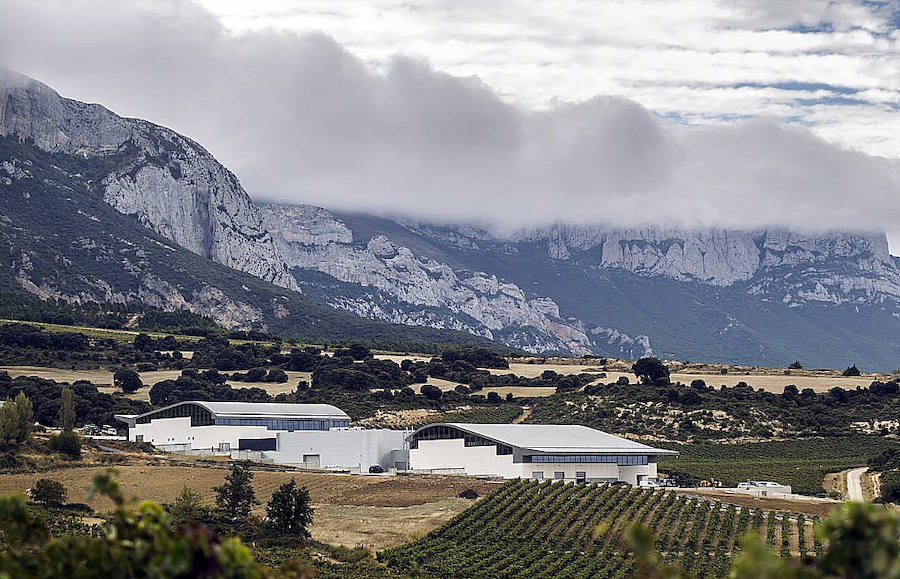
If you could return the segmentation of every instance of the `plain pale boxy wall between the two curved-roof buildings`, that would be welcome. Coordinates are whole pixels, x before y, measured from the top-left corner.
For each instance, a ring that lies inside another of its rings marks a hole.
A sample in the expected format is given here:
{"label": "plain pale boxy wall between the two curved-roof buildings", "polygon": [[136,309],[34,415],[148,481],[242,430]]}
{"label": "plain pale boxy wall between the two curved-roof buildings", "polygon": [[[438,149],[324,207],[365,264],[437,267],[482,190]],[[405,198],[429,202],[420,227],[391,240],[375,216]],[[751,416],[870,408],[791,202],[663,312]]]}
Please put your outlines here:
{"label": "plain pale boxy wall between the two curved-roof buildings", "polygon": [[369,472],[378,465],[393,467],[391,451],[405,447],[409,433],[403,430],[339,429],[279,432],[277,450],[265,451],[278,464],[303,464],[303,455],[318,455],[321,468],[359,469]]}

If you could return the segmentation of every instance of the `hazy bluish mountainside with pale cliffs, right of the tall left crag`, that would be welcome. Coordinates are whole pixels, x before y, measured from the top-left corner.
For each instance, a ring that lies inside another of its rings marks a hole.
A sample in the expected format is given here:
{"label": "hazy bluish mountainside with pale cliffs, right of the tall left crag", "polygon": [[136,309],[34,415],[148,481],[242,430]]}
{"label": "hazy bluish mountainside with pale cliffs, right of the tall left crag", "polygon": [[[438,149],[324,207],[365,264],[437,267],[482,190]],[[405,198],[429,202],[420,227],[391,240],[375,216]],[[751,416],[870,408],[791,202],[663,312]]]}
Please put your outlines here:
{"label": "hazy bluish mountainside with pale cliffs, right of the tall left crag", "polygon": [[304,291],[368,317],[623,358],[891,370],[900,353],[900,268],[884,235],[557,227],[500,237],[261,209]]}

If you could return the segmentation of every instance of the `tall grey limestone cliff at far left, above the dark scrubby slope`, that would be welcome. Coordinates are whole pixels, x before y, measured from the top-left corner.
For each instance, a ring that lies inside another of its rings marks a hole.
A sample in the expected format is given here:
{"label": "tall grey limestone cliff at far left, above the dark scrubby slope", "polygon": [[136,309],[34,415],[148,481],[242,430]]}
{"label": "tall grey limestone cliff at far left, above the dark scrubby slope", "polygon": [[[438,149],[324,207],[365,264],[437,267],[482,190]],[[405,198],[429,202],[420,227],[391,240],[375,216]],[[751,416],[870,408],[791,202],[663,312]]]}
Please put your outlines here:
{"label": "tall grey limestone cliff at far left, above the dark scrubby slope", "polygon": [[296,288],[259,212],[237,178],[194,141],[119,117],[0,70],[0,136],[51,153],[98,157],[95,187],[107,203],[178,245],[218,263]]}

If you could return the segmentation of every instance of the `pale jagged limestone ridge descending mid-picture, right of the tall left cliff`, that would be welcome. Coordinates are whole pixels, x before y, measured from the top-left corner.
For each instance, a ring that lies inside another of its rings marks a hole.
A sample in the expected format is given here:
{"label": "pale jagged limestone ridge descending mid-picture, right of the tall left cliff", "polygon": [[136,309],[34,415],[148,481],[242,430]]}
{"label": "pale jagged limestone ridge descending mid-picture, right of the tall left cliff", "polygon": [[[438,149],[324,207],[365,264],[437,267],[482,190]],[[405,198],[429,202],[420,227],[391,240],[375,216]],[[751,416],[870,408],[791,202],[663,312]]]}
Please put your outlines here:
{"label": "pale jagged limestone ridge descending mid-picture, right of the tall left cliff", "polygon": [[563,320],[545,296],[480,271],[455,271],[384,235],[356,240],[340,220],[311,206],[264,205],[263,223],[292,268],[312,269],[377,290],[379,297],[334,295],[339,308],[378,319],[463,329],[535,352],[589,353],[584,327]]}

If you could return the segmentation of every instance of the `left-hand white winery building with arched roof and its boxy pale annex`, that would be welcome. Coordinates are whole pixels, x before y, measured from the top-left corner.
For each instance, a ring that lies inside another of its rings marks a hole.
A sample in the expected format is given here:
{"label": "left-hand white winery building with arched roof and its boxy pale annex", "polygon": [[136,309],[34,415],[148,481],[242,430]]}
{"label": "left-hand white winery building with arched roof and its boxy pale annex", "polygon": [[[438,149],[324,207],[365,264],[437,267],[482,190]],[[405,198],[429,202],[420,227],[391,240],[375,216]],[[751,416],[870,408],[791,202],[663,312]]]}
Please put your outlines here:
{"label": "left-hand white winery building with arched roof and its boxy pale annex", "polygon": [[407,431],[350,428],[350,417],[329,404],[190,401],[116,418],[128,425],[128,440],[169,452],[351,472],[407,468]]}

